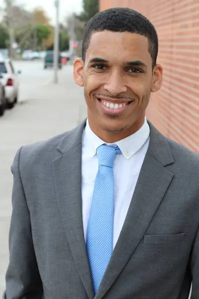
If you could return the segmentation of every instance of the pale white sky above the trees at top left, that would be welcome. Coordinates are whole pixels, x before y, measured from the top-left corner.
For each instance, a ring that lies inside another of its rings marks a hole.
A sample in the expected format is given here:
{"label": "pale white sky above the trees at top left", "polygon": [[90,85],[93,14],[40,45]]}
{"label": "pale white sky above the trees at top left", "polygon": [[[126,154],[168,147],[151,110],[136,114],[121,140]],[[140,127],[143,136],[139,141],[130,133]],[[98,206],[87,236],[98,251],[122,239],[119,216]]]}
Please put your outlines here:
{"label": "pale white sky above the trees at top left", "polygon": [[[59,0],[60,1],[60,21],[72,12],[80,12],[82,10],[83,0]],[[33,10],[35,7],[42,7],[46,14],[55,24],[55,5],[54,0],[13,0],[16,4],[24,4],[24,8]],[[3,6],[3,0],[0,0],[0,7]]]}

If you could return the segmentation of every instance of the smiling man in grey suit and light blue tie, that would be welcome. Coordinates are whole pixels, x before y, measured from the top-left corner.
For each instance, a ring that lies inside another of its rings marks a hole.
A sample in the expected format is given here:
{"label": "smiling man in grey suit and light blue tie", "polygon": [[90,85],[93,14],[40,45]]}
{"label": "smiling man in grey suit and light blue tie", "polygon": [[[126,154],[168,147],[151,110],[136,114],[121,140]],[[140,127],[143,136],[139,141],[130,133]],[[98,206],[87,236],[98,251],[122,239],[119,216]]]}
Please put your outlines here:
{"label": "smiling man in grey suit and light blue tie", "polygon": [[199,299],[199,155],[146,121],[157,54],[134,10],[88,23],[74,63],[87,122],[12,164],[4,299],[188,299],[191,284]]}

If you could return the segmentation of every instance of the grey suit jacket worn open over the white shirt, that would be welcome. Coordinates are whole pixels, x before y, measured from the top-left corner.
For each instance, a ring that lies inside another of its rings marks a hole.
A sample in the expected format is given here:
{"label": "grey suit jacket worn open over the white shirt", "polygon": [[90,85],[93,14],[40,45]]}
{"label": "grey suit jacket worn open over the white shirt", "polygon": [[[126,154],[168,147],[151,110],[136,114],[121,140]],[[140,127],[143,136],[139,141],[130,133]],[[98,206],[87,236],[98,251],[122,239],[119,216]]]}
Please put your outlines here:
{"label": "grey suit jacket worn open over the white shirt", "polygon": [[[94,299],[82,221],[84,127],[16,154],[4,299]],[[150,128],[95,299],[188,299],[192,282],[199,299],[199,155]]]}

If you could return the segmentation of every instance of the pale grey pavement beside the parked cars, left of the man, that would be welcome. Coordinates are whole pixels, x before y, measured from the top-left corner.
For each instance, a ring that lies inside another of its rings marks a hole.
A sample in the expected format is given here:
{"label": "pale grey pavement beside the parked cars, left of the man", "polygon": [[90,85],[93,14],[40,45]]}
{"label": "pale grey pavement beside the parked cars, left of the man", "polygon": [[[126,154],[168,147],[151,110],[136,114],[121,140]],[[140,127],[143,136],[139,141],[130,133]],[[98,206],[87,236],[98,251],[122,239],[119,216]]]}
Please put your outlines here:
{"label": "pale grey pavement beside the parked cars, left of the man", "polygon": [[10,165],[16,150],[74,128],[86,117],[83,89],[73,80],[72,66],[59,71],[59,84],[52,82],[52,69],[41,62],[14,62],[21,70],[19,102],[0,118],[0,298],[8,264],[8,230],[11,215]]}

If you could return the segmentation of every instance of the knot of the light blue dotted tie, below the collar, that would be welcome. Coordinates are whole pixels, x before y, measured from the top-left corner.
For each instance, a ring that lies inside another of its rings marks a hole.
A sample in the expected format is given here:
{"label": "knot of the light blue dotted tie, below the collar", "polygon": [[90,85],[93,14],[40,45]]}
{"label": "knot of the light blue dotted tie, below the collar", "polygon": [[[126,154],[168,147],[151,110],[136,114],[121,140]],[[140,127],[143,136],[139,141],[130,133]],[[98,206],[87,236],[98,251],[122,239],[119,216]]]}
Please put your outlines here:
{"label": "knot of the light blue dotted tie, below the collar", "polygon": [[102,145],[97,149],[98,163],[101,166],[113,167],[114,158],[117,153],[121,153],[116,147]]}

